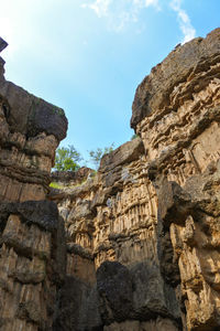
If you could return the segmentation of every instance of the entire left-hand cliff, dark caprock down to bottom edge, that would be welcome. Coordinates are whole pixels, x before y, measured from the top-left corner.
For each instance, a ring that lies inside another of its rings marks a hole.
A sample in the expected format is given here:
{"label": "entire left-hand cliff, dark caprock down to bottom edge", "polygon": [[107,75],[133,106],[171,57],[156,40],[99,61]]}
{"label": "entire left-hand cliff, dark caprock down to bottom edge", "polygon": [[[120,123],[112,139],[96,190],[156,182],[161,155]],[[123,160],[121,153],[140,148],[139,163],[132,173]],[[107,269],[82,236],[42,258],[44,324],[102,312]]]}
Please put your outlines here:
{"label": "entire left-hand cliff, dark caprock down to bottom edge", "polygon": [[62,220],[45,200],[64,111],[3,77],[0,58],[0,330],[51,330],[65,271]]}

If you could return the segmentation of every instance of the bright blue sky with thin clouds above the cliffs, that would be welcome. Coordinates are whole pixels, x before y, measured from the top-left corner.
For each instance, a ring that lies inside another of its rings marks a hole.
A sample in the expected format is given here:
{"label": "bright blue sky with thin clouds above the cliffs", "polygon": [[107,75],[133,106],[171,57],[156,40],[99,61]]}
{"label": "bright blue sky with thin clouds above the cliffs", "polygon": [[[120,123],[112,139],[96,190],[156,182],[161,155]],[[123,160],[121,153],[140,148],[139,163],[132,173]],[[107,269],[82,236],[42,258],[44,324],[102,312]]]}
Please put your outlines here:
{"label": "bright blue sky with thin clouds above the cliffs", "polygon": [[130,140],[138,84],[178,43],[220,26],[219,0],[1,0],[6,77],[65,109],[62,146]]}

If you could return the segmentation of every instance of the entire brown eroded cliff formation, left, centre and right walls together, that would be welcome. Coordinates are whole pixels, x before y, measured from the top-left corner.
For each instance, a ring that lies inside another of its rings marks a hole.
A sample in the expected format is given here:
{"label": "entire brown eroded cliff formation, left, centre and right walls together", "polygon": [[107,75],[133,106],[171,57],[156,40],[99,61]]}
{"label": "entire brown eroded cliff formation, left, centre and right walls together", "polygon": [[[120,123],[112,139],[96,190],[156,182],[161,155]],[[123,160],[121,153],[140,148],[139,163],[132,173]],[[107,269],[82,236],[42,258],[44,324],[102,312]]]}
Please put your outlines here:
{"label": "entire brown eroded cliff formation, left, centre and right walls together", "polygon": [[139,138],[63,189],[63,111],[3,76],[0,96],[0,330],[219,330],[220,29],[152,70]]}

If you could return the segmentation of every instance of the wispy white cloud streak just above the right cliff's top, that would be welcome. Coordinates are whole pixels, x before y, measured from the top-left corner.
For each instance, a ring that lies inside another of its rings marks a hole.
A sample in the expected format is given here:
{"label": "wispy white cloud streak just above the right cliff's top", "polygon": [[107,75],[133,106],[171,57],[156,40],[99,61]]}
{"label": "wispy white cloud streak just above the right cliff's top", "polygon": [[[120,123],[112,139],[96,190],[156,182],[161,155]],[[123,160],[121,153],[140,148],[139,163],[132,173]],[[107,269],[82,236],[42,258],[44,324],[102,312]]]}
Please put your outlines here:
{"label": "wispy white cloud streak just above the right cliff's top", "polygon": [[184,34],[183,43],[186,43],[189,40],[194,39],[196,36],[196,30],[191,25],[187,12],[184,9],[182,9],[182,0],[172,0],[169,6],[177,13],[179,20],[179,28]]}

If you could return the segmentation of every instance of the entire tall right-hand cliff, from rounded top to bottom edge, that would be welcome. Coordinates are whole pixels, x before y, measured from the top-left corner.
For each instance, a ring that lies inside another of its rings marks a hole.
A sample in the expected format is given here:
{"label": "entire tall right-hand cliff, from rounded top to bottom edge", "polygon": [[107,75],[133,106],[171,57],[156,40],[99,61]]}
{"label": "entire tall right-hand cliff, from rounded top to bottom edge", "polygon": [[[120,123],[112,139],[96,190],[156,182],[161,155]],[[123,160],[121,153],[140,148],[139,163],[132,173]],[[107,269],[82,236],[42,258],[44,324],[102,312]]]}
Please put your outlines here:
{"label": "entire tall right-hand cliff, from rounded top to bottom edge", "polygon": [[133,103],[131,126],[158,196],[161,270],[176,289],[187,330],[220,327],[219,114],[220,29],[177,46]]}

